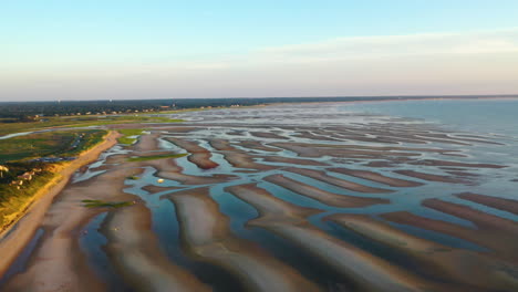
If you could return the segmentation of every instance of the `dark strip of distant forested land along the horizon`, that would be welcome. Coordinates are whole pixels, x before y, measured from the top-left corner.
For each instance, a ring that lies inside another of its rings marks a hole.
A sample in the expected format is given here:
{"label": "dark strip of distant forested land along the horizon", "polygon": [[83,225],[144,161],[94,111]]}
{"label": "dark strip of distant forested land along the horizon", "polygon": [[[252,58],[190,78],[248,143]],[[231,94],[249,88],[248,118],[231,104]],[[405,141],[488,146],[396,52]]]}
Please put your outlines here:
{"label": "dark strip of distant forested land along the horizon", "polygon": [[34,116],[85,115],[138,112],[157,112],[184,108],[218,107],[232,105],[259,105],[272,103],[303,102],[354,102],[354,101],[392,101],[423,98],[480,98],[480,97],[518,97],[511,95],[478,96],[348,96],[348,97],[268,97],[268,98],[168,98],[168,100],[114,100],[114,101],[53,101],[53,102],[0,102],[0,118],[3,123],[30,122]]}

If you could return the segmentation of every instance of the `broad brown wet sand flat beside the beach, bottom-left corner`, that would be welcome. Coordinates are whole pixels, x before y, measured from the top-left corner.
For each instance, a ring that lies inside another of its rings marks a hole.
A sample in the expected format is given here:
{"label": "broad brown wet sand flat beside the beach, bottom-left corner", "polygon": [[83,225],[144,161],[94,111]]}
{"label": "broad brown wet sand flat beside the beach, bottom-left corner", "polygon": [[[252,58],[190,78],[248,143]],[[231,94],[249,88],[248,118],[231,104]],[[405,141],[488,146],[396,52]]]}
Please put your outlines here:
{"label": "broad brown wet sand flat beside the beach, bottom-left corner", "polygon": [[6,290],[19,291],[104,291],[79,247],[77,230],[106,208],[85,208],[81,200],[124,201],[124,178],[131,168],[107,171],[65,188],[46,211],[41,228],[44,234],[29,260],[27,270],[14,275]]}

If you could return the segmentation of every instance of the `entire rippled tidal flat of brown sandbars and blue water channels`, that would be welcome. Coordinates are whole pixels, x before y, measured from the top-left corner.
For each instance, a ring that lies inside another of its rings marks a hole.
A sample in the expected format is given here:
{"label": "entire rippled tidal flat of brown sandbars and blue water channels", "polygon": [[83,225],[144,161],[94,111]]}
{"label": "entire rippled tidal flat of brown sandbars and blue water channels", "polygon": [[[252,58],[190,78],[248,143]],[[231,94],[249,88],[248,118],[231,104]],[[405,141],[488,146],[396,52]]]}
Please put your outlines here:
{"label": "entire rippled tidal flat of brown sandbars and blue water channels", "polygon": [[101,126],[135,143],[33,216],[0,291],[518,291],[516,136],[341,103],[166,119]]}

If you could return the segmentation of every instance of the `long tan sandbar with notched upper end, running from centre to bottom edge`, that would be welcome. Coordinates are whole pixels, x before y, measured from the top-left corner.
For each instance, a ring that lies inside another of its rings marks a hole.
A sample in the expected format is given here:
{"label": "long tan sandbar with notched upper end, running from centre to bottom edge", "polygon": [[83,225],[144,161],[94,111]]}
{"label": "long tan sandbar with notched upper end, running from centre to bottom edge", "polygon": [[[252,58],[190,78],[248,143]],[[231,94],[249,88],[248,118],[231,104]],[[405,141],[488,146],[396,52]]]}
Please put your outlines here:
{"label": "long tan sandbar with notched upper end, running from centre to bottom edge", "polygon": [[305,218],[317,210],[280,200],[253,184],[226,190],[259,211],[260,217],[249,221],[249,226],[292,241],[353,281],[361,288],[358,291],[446,291],[311,226]]}

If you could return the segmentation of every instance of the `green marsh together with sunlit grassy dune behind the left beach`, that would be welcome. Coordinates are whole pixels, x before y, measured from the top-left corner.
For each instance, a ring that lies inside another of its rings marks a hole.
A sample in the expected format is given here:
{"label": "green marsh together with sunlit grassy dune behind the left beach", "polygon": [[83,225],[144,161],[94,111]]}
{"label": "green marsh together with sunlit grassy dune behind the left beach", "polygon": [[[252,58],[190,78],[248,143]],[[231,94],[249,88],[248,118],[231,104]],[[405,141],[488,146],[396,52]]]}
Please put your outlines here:
{"label": "green marsh together with sunlit grassy dune behind the left beach", "polygon": [[63,167],[61,161],[30,159],[77,156],[102,143],[106,133],[103,129],[52,131],[1,140],[0,230],[15,220]]}

